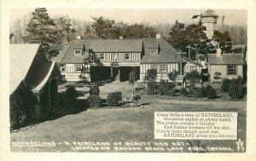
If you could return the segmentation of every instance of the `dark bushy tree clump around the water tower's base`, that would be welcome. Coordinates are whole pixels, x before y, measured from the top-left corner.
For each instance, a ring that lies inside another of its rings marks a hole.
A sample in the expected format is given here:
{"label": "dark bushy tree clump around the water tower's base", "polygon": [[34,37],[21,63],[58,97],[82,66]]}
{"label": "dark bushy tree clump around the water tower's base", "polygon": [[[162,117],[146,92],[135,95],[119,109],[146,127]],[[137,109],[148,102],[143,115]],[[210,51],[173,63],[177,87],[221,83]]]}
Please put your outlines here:
{"label": "dark bushy tree clump around the water tower's base", "polygon": [[197,24],[191,24],[185,26],[183,23],[179,23],[177,20],[175,25],[172,26],[171,32],[169,33],[170,37],[167,39],[172,46],[181,52],[186,52],[186,56],[189,55],[189,50],[187,49],[190,46],[191,57],[195,57],[196,54],[201,54],[200,59],[205,60],[207,54],[216,53],[215,44],[212,44],[212,40],[220,43],[220,49],[224,53],[230,52],[230,35],[229,32],[218,32],[215,31],[212,39],[207,39],[207,35],[204,32],[206,30],[205,26],[202,26],[201,21]]}

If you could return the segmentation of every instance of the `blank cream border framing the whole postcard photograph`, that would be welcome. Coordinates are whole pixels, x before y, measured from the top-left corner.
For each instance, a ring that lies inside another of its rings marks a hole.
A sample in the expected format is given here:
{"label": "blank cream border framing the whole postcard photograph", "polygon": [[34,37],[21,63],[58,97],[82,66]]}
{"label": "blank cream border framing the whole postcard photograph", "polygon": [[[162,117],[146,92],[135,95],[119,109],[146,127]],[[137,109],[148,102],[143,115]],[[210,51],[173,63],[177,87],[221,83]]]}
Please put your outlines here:
{"label": "blank cream border framing the whole postcard photograph", "polygon": [[[90,153],[90,152],[10,152],[9,151],[9,9],[11,8],[112,8],[112,9],[247,9],[247,152],[246,153]],[[256,72],[255,0],[1,0],[1,108],[0,160],[256,160],[255,95]],[[253,61],[254,60],[254,61]]]}

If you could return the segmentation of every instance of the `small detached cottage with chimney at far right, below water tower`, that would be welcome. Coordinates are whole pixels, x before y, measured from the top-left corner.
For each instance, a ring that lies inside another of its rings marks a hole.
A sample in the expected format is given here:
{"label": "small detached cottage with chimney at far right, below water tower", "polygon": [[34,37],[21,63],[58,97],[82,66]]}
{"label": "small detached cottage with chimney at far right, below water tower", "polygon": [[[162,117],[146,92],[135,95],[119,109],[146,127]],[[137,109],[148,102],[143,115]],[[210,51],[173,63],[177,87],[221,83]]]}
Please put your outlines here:
{"label": "small detached cottage with chimney at far right, below water tower", "polygon": [[216,54],[207,56],[211,83],[221,82],[222,78],[243,78],[243,54],[222,54],[221,49],[217,49]]}

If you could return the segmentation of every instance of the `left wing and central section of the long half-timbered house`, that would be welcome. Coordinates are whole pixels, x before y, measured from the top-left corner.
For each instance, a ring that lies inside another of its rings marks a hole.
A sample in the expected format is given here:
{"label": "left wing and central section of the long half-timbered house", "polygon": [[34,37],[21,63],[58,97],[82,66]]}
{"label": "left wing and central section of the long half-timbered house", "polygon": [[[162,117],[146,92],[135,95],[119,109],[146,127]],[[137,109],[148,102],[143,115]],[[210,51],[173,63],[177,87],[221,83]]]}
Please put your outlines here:
{"label": "left wing and central section of the long half-timbered house", "polygon": [[113,78],[125,81],[131,67],[139,69],[143,52],[143,39],[73,40],[56,61],[66,81],[89,81]]}

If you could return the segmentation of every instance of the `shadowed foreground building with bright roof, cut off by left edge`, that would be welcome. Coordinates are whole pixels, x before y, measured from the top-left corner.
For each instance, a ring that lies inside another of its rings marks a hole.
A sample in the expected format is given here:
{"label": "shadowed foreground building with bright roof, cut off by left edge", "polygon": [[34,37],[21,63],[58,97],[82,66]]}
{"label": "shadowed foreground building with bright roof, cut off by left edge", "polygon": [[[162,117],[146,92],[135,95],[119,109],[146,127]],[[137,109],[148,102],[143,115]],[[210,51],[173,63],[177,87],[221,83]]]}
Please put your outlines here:
{"label": "shadowed foreground building with bright roof, cut off by left edge", "polygon": [[22,116],[47,118],[58,103],[58,66],[39,44],[10,44],[9,106],[11,125]]}

